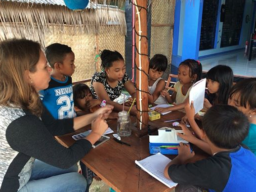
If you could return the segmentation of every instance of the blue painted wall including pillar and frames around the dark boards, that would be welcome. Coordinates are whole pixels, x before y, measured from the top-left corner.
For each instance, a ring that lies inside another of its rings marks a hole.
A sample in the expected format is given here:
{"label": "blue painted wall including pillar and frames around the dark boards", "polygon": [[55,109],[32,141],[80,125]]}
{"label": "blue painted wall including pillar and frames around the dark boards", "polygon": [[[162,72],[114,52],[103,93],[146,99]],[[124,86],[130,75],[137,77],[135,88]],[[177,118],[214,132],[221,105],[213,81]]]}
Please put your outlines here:
{"label": "blue painted wall including pillar and frames around the dark boards", "polygon": [[[254,3],[253,0],[246,0],[239,45],[220,48],[220,36],[222,33],[220,29],[222,29],[222,22],[219,22],[219,7],[216,26],[216,37],[218,38],[215,40],[214,49],[199,51],[203,1],[176,0],[171,61],[174,71],[176,71],[179,63],[187,58],[198,59],[200,57],[244,48],[245,41],[250,37],[252,17],[254,15],[252,7]],[[220,5],[225,2],[225,0],[219,1]],[[248,23],[245,22],[246,15],[249,15],[251,18]],[[173,70],[172,73],[174,73]]]}

